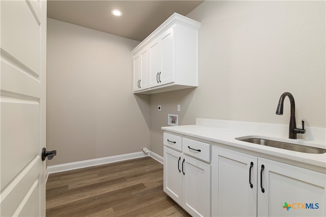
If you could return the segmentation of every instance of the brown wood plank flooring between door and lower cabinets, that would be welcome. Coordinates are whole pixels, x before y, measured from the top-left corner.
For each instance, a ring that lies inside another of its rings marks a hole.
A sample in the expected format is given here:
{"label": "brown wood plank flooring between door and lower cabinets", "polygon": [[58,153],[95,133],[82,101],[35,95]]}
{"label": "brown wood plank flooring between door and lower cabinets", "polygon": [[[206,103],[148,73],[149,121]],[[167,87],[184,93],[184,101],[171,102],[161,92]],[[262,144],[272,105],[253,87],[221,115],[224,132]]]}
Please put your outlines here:
{"label": "brown wood plank flooring between door and lower cabinets", "polygon": [[150,157],[50,174],[46,216],[190,216],[163,192]]}

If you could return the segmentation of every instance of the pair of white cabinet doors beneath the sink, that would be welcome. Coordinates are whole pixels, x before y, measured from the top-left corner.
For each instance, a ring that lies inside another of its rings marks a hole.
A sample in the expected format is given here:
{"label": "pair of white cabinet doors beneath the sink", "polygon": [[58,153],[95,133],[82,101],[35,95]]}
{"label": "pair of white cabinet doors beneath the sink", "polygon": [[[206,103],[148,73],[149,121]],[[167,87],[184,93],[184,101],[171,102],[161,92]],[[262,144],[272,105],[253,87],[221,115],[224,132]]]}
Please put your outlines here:
{"label": "pair of white cabinet doors beneath the sink", "polygon": [[212,216],[326,216],[326,174],[211,149]]}

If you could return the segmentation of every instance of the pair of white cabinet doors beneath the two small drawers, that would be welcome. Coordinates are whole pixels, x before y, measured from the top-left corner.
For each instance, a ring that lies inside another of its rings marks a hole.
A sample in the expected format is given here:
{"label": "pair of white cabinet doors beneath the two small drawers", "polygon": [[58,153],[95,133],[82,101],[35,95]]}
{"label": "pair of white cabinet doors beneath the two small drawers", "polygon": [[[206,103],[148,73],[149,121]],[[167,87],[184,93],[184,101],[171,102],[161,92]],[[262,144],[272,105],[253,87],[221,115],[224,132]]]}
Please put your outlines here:
{"label": "pair of white cabinet doors beneath the two small drawers", "polygon": [[210,165],[164,146],[164,192],[192,216],[210,216]]}

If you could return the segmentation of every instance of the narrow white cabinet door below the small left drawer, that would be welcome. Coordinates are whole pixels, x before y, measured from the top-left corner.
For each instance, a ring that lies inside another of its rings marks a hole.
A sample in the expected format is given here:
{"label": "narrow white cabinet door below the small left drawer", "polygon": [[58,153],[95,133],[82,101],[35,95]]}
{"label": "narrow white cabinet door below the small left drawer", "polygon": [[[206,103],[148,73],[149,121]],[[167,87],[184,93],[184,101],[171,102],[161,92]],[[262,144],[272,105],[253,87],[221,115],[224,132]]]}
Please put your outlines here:
{"label": "narrow white cabinet door below the small left drawer", "polygon": [[181,153],[164,146],[163,190],[182,206]]}

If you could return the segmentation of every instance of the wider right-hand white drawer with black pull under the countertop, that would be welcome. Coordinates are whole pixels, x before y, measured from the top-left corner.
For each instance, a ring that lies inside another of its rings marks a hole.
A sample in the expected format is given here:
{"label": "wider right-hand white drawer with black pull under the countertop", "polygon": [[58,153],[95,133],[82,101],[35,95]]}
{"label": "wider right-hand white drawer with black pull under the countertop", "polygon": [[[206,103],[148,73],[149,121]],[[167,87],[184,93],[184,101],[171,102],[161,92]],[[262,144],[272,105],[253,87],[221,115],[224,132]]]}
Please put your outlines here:
{"label": "wider right-hand white drawer with black pull under the countertop", "polygon": [[190,156],[210,162],[210,144],[182,138],[182,151]]}

